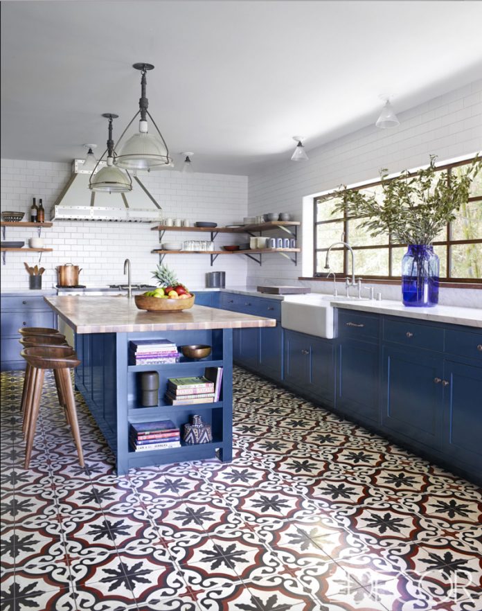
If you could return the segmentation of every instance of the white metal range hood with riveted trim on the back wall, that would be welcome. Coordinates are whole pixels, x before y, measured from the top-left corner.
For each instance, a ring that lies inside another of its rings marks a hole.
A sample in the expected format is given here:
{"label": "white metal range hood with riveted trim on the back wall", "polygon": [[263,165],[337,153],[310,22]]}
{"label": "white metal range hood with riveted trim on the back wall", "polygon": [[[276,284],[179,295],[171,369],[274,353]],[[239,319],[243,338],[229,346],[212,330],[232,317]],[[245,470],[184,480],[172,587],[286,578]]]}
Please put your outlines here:
{"label": "white metal range hood with riveted trim on the back wall", "polygon": [[[98,165],[102,168],[105,162]],[[159,222],[161,206],[137,176],[132,176],[132,191],[102,193],[89,189],[91,170],[84,170],[84,160],[74,159],[72,176],[57,197],[51,220],[91,220],[114,222]]]}

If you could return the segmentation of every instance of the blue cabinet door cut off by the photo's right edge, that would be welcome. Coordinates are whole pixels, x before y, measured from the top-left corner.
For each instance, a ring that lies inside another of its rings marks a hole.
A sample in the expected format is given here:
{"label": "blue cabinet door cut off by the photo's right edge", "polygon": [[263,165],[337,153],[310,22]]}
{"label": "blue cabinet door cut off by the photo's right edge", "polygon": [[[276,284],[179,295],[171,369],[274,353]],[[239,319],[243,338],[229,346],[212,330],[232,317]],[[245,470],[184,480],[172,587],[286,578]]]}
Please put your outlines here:
{"label": "blue cabinet door cut off by the photo's right edge", "polygon": [[482,472],[482,367],[446,360],[444,367],[445,454]]}

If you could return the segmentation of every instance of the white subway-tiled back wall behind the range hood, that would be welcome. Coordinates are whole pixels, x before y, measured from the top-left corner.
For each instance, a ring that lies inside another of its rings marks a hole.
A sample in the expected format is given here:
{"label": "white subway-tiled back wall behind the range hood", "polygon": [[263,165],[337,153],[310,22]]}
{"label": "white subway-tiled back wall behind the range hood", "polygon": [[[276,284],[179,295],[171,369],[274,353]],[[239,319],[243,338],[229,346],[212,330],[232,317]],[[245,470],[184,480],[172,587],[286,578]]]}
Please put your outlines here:
{"label": "white subway-tiled back wall behind the range hood", "polygon": [[[27,220],[32,197],[42,197],[48,211],[71,175],[71,163],[46,163],[42,161],[1,160],[1,211],[26,212]],[[143,183],[163,209],[163,214],[173,218],[189,218],[195,221],[213,221],[218,225],[242,221],[247,215],[247,177],[191,174],[162,171],[142,177]],[[89,202],[89,192],[86,201]],[[38,199],[37,199],[38,201]],[[42,286],[57,283],[55,267],[65,263],[80,265],[80,283],[107,285],[125,283],[123,262],[130,258],[132,281],[150,282],[151,272],[159,257],[151,250],[159,247],[159,233],[150,231],[152,224],[71,222],[55,221],[51,229],[42,230],[46,247],[53,252],[42,255],[46,268]],[[37,236],[36,229],[6,228],[6,240],[25,240]],[[208,233],[166,233],[163,240],[205,240]],[[3,238],[2,238],[3,241]],[[245,241],[244,236],[220,233],[215,247],[226,243]],[[24,261],[35,265],[38,254],[32,252],[8,252],[6,265],[1,266],[1,288],[28,289],[28,274]],[[219,256],[210,267],[208,255],[168,255],[164,259],[179,274],[179,280],[188,287],[204,287],[205,273],[224,270],[226,285],[244,283],[246,257]]]}

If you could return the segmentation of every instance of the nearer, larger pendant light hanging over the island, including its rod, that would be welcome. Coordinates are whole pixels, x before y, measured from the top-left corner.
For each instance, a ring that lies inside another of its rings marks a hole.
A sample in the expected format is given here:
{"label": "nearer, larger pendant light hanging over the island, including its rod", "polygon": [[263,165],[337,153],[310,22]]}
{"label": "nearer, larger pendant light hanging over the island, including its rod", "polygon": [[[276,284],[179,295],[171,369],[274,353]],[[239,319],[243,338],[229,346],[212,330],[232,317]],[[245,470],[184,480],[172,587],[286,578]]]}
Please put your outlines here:
{"label": "nearer, larger pendant light hanging over the island, including its rod", "polygon": [[[160,168],[173,168],[174,164],[172,159],[169,157],[169,149],[163,135],[159,131],[154,119],[148,111],[149,100],[145,95],[145,89],[147,86],[146,73],[149,70],[154,69],[152,64],[133,64],[136,70],[141,71],[141,98],[139,99],[139,110],[134,114],[132,120],[127,125],[120,138],[117,141],[117,146],[123,139],[125,132],[129,129],[130,125],[138,114],[141,115],[139,121],[139,133],[131,136],[129,140],[123,145],[123,148],[119,151],[116,156],[114,163],[119,168],[125,168],[126,170],[159,170]],[[148,132],[148,121],[147,117],[152,121],[152,125],[157,130],[159,138],[155,134]]]}

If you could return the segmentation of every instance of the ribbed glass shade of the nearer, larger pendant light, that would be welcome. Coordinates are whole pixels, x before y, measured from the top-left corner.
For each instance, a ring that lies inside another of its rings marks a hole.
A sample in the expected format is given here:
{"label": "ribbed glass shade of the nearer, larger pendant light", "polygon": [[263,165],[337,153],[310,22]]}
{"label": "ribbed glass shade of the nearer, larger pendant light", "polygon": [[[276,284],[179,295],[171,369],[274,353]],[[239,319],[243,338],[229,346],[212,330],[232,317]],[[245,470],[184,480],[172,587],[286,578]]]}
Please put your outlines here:
{"label": "ribbed glass shade of the nearer, larger pendant light", "polygon": [[114,163],[119,168],[126,170],[157,170],[174,167],[172,159],[168,156],[159,138],[141,132],[127,140]]}

